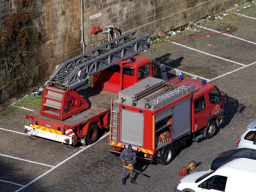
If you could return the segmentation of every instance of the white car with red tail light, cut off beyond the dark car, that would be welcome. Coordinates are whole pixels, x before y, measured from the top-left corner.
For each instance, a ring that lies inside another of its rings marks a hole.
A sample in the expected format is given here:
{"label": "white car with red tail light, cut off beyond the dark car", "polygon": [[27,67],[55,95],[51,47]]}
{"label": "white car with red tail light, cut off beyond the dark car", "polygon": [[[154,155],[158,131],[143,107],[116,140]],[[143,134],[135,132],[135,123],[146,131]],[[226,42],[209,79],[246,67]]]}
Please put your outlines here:
{"label": "white car with red tail light, cut off beyond the dark car", "polygon": [[247,129],[239,138],[236,148],[256,149],[256,128]]}

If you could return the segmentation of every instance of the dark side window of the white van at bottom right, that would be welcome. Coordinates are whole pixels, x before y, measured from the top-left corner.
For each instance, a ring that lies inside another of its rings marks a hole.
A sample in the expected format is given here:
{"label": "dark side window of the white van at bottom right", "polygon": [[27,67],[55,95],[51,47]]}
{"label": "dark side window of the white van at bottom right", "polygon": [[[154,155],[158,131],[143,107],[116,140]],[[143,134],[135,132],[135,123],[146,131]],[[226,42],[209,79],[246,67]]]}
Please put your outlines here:
{"label": "dark side window of the white van at bottom right", "polygon": [[202,182],[198,187],[203,189],[214,189],[217,191],[225,191],[227,177],[221,175],[214,175]]}

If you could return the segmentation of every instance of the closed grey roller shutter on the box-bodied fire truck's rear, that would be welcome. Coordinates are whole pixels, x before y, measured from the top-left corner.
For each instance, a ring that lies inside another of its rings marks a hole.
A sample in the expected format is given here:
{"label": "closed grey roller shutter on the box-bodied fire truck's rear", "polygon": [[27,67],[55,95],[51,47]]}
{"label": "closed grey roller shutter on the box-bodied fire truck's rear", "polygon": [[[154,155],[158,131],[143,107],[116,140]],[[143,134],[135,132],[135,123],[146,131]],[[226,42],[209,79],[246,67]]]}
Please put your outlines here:
{"label": "closed grey roller shutter on the box-bodied fire truck's rear", "polygon": [[143,147],[144,114],[122,109],[121,143]]}

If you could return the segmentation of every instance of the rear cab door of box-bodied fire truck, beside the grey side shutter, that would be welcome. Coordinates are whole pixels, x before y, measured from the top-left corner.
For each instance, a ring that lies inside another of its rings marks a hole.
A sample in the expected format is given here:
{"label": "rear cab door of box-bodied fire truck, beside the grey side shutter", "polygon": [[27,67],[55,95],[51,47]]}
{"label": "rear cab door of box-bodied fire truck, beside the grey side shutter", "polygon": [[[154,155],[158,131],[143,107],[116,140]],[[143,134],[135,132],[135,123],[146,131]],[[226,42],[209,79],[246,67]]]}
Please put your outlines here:
{"label": "rear cab door of box-bodied fire truck, beside the grey side shutter", "polygon": [[208,119],[204,95],[194,100],[193,106],[194,107],[192,110],[194,110],[194,119],[192,121],[192,132],[195,132],[198,129],[203,128],[206,125]]}

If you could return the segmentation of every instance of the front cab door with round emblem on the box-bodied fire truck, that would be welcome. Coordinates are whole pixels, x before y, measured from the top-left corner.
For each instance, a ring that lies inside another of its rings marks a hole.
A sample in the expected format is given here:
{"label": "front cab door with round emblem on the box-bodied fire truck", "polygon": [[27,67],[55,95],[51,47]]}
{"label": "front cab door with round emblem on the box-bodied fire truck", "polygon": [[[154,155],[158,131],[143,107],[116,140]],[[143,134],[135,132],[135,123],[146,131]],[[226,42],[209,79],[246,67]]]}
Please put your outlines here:
{"label": "front cab door with round emblem on the box-bodied fire truck", "polygon": [[221,108],[222,97],[217,88],[209,92],[209,98],[207,97],[206,103],[209,111],[208,117],[214,116],[220,113],[220,111],[223,111],[223,108]]}

